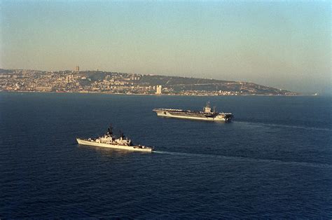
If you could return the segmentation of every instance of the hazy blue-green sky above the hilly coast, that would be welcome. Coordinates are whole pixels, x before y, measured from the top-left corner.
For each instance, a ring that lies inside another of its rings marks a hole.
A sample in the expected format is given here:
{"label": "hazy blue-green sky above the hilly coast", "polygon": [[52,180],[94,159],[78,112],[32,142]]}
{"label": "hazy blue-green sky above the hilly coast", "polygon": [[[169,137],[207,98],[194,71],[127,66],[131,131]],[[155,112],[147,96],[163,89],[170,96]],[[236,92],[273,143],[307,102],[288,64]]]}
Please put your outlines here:
{"label": "hazy blue-green sky above the hilly coast", "polygon": [[2,1],[0,67],[330,90],[330,1]]}

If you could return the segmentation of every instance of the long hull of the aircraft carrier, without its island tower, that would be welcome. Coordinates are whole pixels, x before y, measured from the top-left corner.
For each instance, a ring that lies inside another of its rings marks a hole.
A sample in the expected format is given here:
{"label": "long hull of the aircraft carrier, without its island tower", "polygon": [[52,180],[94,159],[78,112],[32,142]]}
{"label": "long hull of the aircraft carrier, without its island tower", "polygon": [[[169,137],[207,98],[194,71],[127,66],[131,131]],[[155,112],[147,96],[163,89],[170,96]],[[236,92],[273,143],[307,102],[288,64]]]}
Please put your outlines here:
{"label": "long hull of the aircraft carrier, without its island tower", "polygon": [[230,121],[230,118],[223,116],[208,117],[204,114],[186,113],[186,112],[170,112],[162,110],[154,110],[157,116],[167,117],[167,118],[183,118],[183,119],[193,119],[202,121]]}

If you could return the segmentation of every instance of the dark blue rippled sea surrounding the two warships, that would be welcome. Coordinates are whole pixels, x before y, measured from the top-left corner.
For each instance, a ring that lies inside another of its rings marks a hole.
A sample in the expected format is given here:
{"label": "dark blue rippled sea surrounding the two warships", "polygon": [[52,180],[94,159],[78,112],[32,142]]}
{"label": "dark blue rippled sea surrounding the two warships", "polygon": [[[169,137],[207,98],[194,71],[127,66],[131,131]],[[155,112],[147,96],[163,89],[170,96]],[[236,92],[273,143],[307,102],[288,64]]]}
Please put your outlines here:
{"label": "dark blue rippled sea surrounding the two warships", "polygon": [[[200,110],[232,123],[158,118]],[[332,218],[331,97],[0,93],[0,218]],[[112,123],[139,153],[80,146]]]}

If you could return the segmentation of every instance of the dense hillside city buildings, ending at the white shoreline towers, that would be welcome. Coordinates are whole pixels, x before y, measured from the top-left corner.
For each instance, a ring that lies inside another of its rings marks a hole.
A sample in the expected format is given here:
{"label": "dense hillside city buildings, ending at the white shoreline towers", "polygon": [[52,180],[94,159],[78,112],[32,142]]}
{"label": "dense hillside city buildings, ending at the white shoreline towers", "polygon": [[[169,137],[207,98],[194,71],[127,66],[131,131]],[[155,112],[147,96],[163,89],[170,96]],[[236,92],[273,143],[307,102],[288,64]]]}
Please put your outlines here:
{"label": "dense hillside city buildings, ending at the white shoreline towers", "polygon": [[79,67],[76,67],[75,71],[2,71],[0,90],[162,94],[161,85],[144,85],[139,83],[141,77],[139,74],[104,74],[102,72],[90,74],[89,71],[80,72]]}

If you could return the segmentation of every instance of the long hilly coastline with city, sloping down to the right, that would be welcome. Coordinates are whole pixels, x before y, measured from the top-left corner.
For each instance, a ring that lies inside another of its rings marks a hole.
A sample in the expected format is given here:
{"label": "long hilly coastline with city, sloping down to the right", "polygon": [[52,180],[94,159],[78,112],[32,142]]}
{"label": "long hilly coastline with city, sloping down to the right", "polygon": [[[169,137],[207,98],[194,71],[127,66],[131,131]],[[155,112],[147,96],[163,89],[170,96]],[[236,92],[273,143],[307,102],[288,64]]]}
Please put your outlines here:
{"label": "long hilly coastline with city, sloping down to the right", "polygon": [[[161,90],[157,92],[157,86]],[[160,87],[159,87],[160,88]],[[153,95],[298,95],[256,83],[108,71],[0,69],[0,90]]]}

